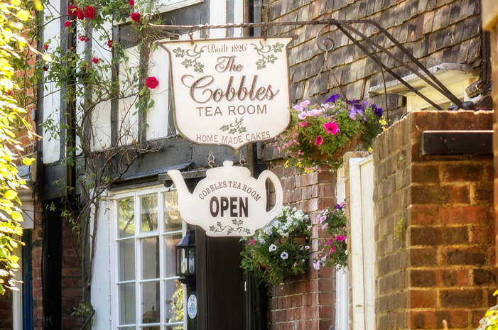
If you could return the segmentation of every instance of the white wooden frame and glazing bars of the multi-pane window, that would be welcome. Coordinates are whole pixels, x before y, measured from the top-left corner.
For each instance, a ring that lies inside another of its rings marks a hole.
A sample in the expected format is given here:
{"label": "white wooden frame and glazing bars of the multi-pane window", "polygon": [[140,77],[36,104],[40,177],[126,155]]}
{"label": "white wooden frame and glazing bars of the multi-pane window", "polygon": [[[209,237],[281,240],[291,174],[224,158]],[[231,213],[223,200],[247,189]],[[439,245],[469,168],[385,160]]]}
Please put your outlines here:
{"label": "white wooden frame and glazing bars of the multi-pane window", "polygon": [[[112,322],[112,329],[130,329],[134,328],[136,330],[142,330],[145,327],[156,327],[158,326],[159,329],[165,330],[166,326],[173,325],[173,324],[168,324],[166,323],[166,313],[164,313],[164,302],[166,301],[165,297],[165,284],[166,281],[168,280],[176,280],[178,279],[178,276],[173,276],[173,277],[165,277],[165,266],[163,265],[164,259],[165,259],[165,241],[164,239],[159,240],[159,263],[160,263],[160,270],[159,270],[159,285],[160,285],[160,294],[159,294],[159,301],[161,302],[161,305],[159,307],[156,307],[157,309],[161,309],[160,311],[160,322],[159,323],[151,323],[151,324],[143,324],[141,321],[143,312],[141,310],[141,297],[142,297],[142,290],[141,290],[141,284],[144,282],[155,282],[156,279],[151,279],[151,280],[142,280],[139,274],[141,273],[142,270],[142,259],[141,259],[141,245],[138,243],[140,238],[145,238],[145,237],[154,237],[156,236],[153,233],[157,233],[156,231],[153,232],[148,232],[148,233],[140,233],[140,223],[139,223],[139,217],[137,217],[137,214],[140,214],[141,211],[141,205],[140,205],[140,197],[144,197],[146,195],[150,194],[157,194],[158,197],[158,236],[160,238],[163,238],[166,236],[166,234],[172,234],[172,233],[181,233],[181,236],[185,236],[186,233],[186,223],[183,221],[182,224],[182,229],[180,231],[166,231],[164,230],[164,192],[170,192],[175,190],[174,188],[171,187],[164,187],[163,185],[158,185],[155,187],[148,187],[148,188],[143,188],[143,189],[131,189],[127,190],[124,192],[119,192],[116,194],[111,194],[108,198],[109,200],[109,206],[111,209],[111,222],[110,222],[110,237],[111,237],[111,244],[110,244],[110,251],[112,255],[112,265],[111,265],[111,278],[112,278],[112,290],[111,290],[111,295],[112,295],[112,315],[113,317],[111,318]],[[134,236],[129,236],[126,237],[127,239],[133,237],[135,241],[134,245],[134,254],[135,254],[135,278],[134,280],[129,280],[129,281],[119,281],[119,249],[118,249],[118,242],[122,241],[123,239],[126,238],[119,238],[118,236],[118,228],[119,228],[119,216],[118,216],[118,202],[120,199],[125,199],[129,197],[134,197],[134,210],[135,210],[135,231],[134,231]],[[124,282],[134,282],[135,283],[135,324],[131,325],[120,325],[119,324],[119,284],[123,284]],[[186,314],[186,293],[187,293],[187,287],[183,285],[183,309],[184,309],[184,314],[183,314],[183,329],[187,329],[187,314]]]}

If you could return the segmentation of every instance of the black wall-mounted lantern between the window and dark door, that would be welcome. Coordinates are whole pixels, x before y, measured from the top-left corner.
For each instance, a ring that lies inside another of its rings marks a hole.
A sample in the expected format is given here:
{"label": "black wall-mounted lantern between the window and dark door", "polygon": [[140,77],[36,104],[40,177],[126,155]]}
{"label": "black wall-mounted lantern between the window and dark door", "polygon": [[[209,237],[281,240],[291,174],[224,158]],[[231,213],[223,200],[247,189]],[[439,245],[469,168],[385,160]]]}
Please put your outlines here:
{"label": "black wall-mounted lantern between the window and dark door", "polygon": [[195,231],[190,229],[176,244],[176,276],[189,289],[195,287]]}

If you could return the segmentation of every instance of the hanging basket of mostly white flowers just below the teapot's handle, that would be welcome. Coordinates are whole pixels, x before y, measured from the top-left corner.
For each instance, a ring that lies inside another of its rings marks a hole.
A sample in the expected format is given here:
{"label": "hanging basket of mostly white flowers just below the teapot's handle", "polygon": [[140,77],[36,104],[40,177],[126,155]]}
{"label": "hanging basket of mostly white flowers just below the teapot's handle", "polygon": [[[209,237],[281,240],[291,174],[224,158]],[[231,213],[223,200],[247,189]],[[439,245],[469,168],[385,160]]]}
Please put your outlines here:
{"label": "hanging basket of mostly white flowers just below the teapot's handle", "polygon": [[258,229],[246,242],[242,263],[256,280],[278,285],[290,275],[308,268],[310,246],[303,241],[310,235],[310,219],[303,211],[283,207],[275,219]]}

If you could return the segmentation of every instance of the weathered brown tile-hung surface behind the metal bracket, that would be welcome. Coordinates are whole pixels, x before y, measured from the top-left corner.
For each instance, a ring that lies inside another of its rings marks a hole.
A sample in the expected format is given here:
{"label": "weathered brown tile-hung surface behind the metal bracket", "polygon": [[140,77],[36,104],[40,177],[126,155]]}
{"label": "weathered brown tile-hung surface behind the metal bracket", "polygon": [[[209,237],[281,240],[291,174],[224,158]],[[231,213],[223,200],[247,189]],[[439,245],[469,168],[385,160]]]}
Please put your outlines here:
{"label": "weathered brown tile-hung surface behind the metal bracket", "polygon": [[[358,19],[366,18],[381,23],[396,40],[413,51],[426,67],[449,62],[478,64],[480,60],[480,0],[269,0],[268,21],[308,21],[311,19]],[[376,28],[354,25],[367,36],[394,55],[404,57],[394,45],[385,40]],[[382,77],[377,63],[364,55],[345,35],[334,26],[323,33],[335,42],[328,52],[323,67],[323,52],[315,44],[318,26],[285,26],[270,28],[268,35],[298,35],[290,48],[289,77],[291,77],[291,101],[310,99],[321,103],[330,94],[342,88],[348,99],[368,99],[369,87],[381,84]],[[403,77],[408,71],[396,64],[384,53],[381,62]],[[408,62],[407,57],[404,58]],[[322,68],[323,67],[323,68]],[[320,71],[320,69],[323,69]],[[386,80],[394,80],[386,73]],[[386,109],[384,96],[371,99]],[[399,119],[403,98],[388,97],[389,117]]]}

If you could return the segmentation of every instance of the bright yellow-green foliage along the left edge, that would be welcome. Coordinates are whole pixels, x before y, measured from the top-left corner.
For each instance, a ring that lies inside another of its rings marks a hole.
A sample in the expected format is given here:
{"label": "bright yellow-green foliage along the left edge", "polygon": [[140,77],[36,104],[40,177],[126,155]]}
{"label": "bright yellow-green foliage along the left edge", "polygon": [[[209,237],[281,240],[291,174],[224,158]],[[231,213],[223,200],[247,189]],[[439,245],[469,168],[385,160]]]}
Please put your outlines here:
{"label": "bright yellow-green foliage along the left edge", "polygon": [[[18,256],[13,249],[20,241],[14,235],[21,236],[21,202],[17,189],[26,188],[25,181],[18,176],[16,163],[30,165],[33,160],[22,156],[21,142],[16,133],[29,133],[29,123],[25,119],[26,110],[13,97],[12,92],[18,89],[15,82],[16,63],[26,50],[38,53],[20,36],[24,22],[30,20],[31,14],[21,0],[0,2],[0,294],[6,289],[16,290],[14,271],[19,268]],[[40,9],[39,1],[28,5]],[[45,57],[45,60],[50,60]]]}

